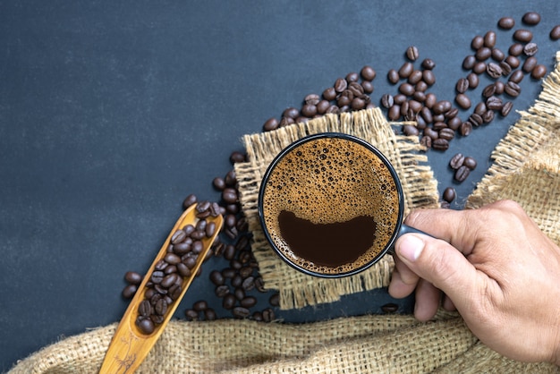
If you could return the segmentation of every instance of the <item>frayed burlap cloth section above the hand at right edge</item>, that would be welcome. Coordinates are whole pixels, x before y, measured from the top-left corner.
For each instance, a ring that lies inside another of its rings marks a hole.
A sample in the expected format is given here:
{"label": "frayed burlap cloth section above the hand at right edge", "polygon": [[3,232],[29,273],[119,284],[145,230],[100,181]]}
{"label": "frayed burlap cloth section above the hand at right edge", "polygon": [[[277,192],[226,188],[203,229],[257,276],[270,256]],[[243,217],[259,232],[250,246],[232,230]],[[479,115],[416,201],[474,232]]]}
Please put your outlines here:
{"label": "frayed burlap cloth section above the hand at right edge", "polygon": [[560,52],[535,104],[492,153],[493,165],[466,207],[516,200],[541,230],[560,243]]}

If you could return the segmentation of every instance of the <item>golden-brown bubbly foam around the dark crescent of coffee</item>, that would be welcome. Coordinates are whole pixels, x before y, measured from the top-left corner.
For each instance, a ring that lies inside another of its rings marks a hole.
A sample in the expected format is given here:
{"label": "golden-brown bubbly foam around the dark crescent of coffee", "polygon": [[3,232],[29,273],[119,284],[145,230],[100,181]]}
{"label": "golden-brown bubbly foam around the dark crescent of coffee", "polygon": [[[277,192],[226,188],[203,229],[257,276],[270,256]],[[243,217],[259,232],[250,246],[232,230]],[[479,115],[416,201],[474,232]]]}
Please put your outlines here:
{"label": "golden-brown bubbly foam around the dark crescent of coffee", "polygon": [[[342,138],[318,138],[291,149],[269,174],[262,199],[265,225],[276,247],[301,268],[322,274],[346,273],[368,264],[385,249],[399,219],[399,193],[383,160],[360,143]],[[315,224],[373,217],[376,239],[352,263],[318,266],[296,256],[284,242],[277,219],[282,210]]]}

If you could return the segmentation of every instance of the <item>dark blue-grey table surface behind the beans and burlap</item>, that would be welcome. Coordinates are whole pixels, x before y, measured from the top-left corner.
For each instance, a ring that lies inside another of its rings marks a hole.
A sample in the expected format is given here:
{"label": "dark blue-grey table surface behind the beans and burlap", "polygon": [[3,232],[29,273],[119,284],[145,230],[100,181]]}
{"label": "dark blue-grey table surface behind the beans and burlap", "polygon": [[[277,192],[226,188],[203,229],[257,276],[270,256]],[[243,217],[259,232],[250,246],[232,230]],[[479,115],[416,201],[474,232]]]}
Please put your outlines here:
{"label": "dark blue-grey table surface behind the beans and burlap", "polygon": [[[0,2],[0,370],[119,320],[123,274],[148,268],[188,194],[219,199],[211,181],[231,169],[243,134],[366,64],[378,72],[378,104],[395,94],[386,72],[411,45],[437,64],[430,90],[453,100],[471,38],[496,30],[507,51],[513,31],[496,22],[512,16],[522,28],[527,11],[542,15],[527,28],[550,71],[560,47],[548,38],[560,23],[552,0]],[[482,75],[469,92],[474,102],[489,82]],[[515,110],[541,90],[529,77],[521,86]],[[498,116],[446,152],[428,152],[440,191],[457,191],[452,208],[462,207],[517,118]],[[456,152],[479,161],[464,183],[447,166]],[[205,264],[177,317],[207,299],[230,318],[208,280],[208,269],[223,267],[224,259]],[[377,290],[276,317],[378,313],[386,302],[408,312],[413,301]]]}

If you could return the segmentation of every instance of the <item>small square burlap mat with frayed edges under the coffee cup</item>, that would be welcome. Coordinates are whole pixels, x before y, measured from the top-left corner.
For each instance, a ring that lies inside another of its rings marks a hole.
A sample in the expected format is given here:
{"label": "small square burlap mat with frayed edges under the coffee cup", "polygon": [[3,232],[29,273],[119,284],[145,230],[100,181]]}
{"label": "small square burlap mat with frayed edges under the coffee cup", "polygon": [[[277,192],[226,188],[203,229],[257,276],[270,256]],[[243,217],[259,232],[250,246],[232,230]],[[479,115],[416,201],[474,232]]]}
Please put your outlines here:
{"label": "small square burlap mat with frayed edges under the coffee cup", "polygon": [[[402,125],[403,123],[398,123]],[[437,182],[427,165],[418,137],[395,135],[379,108],[341,115],[325,115],[307,123],[296,123],[273,132],[245,135],[248,161],[235,165],[240,201],[253,234],[253,254],[268,289],[280,293],[280,308],[293,309],[323,302],[335,302],[341,295],[388,285],[393,268],[389,256],[356,276],[322,279],[306,276],[287,266],[270,248],[259,224],[259,187],[267,166],[293,141],[318,132],[344,132],[377,147],[389,159],[401,179],[404,211],[437,207]]]}

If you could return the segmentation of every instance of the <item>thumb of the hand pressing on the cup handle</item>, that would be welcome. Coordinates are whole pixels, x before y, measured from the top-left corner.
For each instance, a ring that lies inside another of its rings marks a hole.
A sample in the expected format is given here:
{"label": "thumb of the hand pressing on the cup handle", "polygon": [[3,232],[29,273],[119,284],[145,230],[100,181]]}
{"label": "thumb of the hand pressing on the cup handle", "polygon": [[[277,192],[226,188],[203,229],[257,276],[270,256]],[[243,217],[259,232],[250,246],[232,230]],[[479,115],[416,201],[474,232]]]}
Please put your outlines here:
{"label": "thumb of the hand pressing on the cup handle", "polygon": [[421,278],[442,290],[461,310],[476,287],[477,271],[448,242],[423,234],[403,234],[395,242],[399,259]]}

